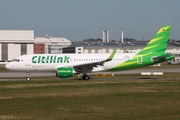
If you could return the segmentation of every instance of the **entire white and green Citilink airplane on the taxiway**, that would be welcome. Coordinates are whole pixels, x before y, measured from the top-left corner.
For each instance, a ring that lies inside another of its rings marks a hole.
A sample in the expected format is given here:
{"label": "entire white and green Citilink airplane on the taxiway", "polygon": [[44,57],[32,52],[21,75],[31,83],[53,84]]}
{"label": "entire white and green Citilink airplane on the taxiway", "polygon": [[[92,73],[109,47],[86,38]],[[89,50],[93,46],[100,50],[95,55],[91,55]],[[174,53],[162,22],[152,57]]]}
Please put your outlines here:
{"label": "entire white and green Citilink airplane on the taxiway", "polygon": [[149,43],[138,53],[111,54],[28,54],[22,55],[5,65],[12,71],[26,72],[30,80],[33,72],[55,72],[56,77],[68,78],[83,74],[89,80],[89,73],[100,71],[123,71],[161,63],[174,58],[166,54],[171,26],[162,26]]}

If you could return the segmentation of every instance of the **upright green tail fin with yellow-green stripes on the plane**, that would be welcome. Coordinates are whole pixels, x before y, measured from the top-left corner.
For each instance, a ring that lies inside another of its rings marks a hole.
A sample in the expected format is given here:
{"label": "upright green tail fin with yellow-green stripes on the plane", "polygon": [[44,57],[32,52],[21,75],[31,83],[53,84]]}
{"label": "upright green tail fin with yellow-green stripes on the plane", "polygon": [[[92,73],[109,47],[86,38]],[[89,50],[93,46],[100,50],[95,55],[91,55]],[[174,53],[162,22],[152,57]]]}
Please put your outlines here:
{"label": "upright green tail fin with yellow-green stripes on the plane", "polygon": [[171,26],[163,26],[155,34],[155,36],[150,40],[150,42],[142,49],[137,55],[163,55],[165,54]]}

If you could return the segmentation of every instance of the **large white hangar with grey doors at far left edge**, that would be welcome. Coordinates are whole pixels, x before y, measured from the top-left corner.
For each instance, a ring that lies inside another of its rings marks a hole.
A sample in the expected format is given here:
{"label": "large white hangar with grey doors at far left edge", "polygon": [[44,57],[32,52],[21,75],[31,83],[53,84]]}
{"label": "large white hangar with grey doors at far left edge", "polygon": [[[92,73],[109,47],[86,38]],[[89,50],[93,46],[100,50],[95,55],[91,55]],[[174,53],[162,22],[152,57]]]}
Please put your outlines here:
{"label": "large white hangar with grey doors at far left edge", "polygon": [[34,53],[33,30],[0,30],[0,62],[10,61],[13,58]]}

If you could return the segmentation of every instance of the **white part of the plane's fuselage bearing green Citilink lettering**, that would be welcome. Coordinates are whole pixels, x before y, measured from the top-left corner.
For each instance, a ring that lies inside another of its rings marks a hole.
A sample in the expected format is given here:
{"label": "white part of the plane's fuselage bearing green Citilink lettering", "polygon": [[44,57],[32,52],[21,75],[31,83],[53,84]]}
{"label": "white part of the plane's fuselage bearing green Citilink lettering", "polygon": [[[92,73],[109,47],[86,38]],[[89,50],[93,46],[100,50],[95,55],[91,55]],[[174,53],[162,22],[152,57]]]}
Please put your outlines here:
{"label": "white part of the plane's fuselage bearing green Citilink lettering", "polygon": [[[6,64],[6,68],[25,72],[54,72],[59,67],[74,67],[88,63],[104,61],[111,54],[32,54],[17,57]],[[104,65],[94,67],[92,72],[109,70],[124,61],[131,59],[135,54],[115,54],[113,59]],[[87,65],[88,67],[88,65]]]}

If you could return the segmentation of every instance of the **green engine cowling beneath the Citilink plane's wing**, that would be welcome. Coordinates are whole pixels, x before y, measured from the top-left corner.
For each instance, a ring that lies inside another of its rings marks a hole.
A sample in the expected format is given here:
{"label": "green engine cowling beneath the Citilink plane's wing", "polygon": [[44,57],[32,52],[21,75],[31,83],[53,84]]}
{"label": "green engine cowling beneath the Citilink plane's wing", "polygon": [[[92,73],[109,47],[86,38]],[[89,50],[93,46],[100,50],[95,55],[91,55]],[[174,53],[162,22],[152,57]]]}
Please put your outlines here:
{"label": "green engine cowling beneath the Citilink plane's wing", "polygon": [[67,78],[73,76],[73,68],[57,68],[56,77]]}

